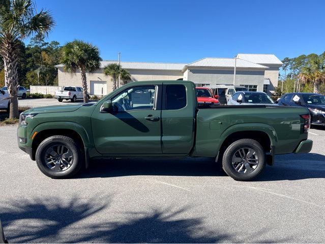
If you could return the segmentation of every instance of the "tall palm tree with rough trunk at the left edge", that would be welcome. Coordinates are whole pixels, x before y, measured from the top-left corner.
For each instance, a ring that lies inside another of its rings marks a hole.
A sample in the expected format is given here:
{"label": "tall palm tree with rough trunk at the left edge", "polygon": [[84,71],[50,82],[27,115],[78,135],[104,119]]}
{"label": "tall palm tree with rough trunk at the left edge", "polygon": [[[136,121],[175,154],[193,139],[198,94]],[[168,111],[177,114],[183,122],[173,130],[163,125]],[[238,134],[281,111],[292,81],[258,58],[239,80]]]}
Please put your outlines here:
{"label": "tall palm tree with rough trunk at the left edge", "polygon": [[18,117],[18,45],[34,34],[47,35],[54,26],[49,11],[36,11],[33,0],[0,0],[0,54],[10,95],[10,118]]}

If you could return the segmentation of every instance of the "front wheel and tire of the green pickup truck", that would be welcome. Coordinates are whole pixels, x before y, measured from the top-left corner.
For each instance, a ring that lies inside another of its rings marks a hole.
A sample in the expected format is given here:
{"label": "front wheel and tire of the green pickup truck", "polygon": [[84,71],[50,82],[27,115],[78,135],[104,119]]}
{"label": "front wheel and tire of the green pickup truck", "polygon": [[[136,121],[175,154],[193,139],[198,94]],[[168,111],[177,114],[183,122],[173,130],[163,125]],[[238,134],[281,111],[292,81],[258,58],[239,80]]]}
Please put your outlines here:
{"label": "front wheel and tire of the green pickup truck", "polygon": [[[36,150],[37,166],[48,177],[54,179],[69,178],[78,173],[84,162],[83,153],[78,148],[79,146],[70,137],[50,136],[42,141]],[[56,157],[55,154],[59,156]]]}

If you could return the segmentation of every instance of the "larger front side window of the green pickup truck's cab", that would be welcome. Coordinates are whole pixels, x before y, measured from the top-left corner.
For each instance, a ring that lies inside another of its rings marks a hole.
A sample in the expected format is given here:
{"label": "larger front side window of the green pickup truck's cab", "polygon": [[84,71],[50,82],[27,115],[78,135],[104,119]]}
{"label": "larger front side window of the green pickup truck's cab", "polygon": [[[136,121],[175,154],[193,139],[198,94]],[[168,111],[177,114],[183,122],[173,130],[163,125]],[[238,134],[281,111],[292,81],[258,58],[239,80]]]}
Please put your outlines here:
{"label": "larger front side window of the green pickup truck's cab", "polygon": [[133,86],[113,97],[112,104],[117,107],[118,111],[153,109],[155,94],[154,85]]}

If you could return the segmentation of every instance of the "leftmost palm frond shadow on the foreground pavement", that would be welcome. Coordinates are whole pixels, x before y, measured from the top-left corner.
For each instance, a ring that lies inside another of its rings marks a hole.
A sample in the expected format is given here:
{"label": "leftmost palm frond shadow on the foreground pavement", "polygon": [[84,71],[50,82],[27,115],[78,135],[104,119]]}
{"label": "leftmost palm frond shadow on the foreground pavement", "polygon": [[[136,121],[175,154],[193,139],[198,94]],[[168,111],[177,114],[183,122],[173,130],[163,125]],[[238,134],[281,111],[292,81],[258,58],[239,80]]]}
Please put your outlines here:
{"label": "leftmost palm frond shadow on the foreground pavement", "polygon": [[[107,205],[107,201],[99,203],[94,199],[77,197],[68,202],[55,197],[18,200],[2,202],[0,218],[9,242],[58,242],[60,231],[96,214]],[[15,227],[9,231],[11,225]]]}

